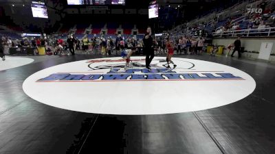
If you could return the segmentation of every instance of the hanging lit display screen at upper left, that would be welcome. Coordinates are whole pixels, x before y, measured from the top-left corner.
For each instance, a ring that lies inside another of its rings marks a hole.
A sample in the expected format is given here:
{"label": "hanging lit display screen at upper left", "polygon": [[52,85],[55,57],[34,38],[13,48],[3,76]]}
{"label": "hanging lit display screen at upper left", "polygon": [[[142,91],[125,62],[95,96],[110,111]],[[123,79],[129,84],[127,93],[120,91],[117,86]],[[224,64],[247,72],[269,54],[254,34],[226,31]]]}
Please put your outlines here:
{"label": "hanging lit display screen at upper left", "polygon": [[45,3],[32,1],[32,16],[34,18],[48,18]]}

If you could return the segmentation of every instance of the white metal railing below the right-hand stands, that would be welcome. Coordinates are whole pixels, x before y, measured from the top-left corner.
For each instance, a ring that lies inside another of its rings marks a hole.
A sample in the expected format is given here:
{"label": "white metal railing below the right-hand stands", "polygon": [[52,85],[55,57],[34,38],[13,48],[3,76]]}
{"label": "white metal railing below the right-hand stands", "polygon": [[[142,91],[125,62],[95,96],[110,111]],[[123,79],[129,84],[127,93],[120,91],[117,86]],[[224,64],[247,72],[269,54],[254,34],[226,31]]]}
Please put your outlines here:
{"label": "white metal railing below the right-hand stands", "polygon": [[234,30],[234,31],[223,31],[221,34],[212,33],[214,37],[270,37],[275,36],[275,27],[262,28],[262,29],[243,29],[243,30]]}

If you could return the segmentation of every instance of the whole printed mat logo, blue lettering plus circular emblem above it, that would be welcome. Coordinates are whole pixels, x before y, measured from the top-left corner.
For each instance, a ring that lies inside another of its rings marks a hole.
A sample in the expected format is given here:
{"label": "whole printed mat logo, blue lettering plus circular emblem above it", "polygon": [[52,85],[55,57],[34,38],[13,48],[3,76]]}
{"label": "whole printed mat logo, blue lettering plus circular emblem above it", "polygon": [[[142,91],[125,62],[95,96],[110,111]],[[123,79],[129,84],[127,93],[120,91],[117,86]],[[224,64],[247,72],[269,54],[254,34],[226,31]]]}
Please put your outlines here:
{"label": "whole printed mat logo, blue lettering plus circular emblem above it", "polygon": [[[37,80],[37,82],[68,82],[68,81],[196,81],[196,80],[243,80],[230,72],[224,71],[196,71],[195,64],[184,60],[182,67],[165,68],[166,61],[157,59],[149,71],[144,68],[144,59],[132,60],[132,68],[124,68],[124,60],[89,60],[87,68],[90,72],[54,73]],[[184,66],[184,64],[186,64]],[[102,70],[94,71],[94,70]],[[190,70],[190,71],[186,71]]]}

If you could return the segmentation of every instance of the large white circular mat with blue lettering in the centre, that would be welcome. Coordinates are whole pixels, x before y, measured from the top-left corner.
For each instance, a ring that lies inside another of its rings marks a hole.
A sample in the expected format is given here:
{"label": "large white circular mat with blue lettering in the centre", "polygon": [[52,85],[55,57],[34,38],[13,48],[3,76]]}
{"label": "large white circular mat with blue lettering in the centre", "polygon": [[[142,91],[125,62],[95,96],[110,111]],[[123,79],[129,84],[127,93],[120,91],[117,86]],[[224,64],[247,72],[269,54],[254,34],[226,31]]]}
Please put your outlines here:
{"label": "large white circular mat with blue lettering in the centre", "polygon": [[[239,101],[256,88],[241,70],[201,60],[155,57],[152,71],[144,57],[132,57],[124,70],[121,57],[70,62],[45,68],[23,83],[29,97],[65,110],[95,114],[173,114]],[[171,65],[172,66],[172,65]]]}

